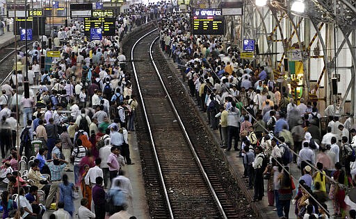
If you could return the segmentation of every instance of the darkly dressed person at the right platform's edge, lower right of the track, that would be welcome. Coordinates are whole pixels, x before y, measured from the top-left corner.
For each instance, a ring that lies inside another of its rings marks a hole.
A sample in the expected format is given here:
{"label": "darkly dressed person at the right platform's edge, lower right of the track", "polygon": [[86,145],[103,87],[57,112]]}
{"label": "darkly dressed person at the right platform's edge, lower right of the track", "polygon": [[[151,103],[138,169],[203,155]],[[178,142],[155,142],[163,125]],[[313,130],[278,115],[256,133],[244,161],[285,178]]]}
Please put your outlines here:
{"label": "darkly dressed person at the right platform's edge, lower right of the track", "polygon": [[252,166],[254,168],[254,202],[262,200],[264,197],[264,168],[262,166],[264,161],[264,153],[261,146],[255,148],[256,157],[254,157],[254,162]]}

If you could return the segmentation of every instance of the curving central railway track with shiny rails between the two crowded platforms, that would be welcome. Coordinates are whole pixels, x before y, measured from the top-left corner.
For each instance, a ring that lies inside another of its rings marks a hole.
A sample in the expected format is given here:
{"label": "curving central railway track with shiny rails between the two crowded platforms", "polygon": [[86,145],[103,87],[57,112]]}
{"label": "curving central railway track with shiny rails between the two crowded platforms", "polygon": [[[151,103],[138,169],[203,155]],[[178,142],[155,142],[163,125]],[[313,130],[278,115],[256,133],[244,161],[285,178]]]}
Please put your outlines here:
{"label": "curving central railway track with shiny rails between the two crowded platforms", "polygon": [[[131,60],[140,60],[132,63],[143,105],[143,116],[138,116],[136,129],[138,133],[145,133],[139,137],[138,144],[151,217],[252,216],[245,204],[240,208],[236,203],[244,198],[236,197],[235,191],[229,191],[232,187],[225,184],[228,180],[219,173],[216,161],[207,152],[209,137],[204,128],[201,131],[196,129],[201,128],[200,121],[187,120],[186,116],[190,113],[184,109],[187,108],[184,101],[188,100],[184,100],[184,95],[178,91],[169,94],[163,86],[163,80],[172,76],[161,78],[156,73],[162,68],[165,73],[169,70],[163,64],[154,66],[154,62],[149,60],[150,56],[153,58],[152,46],[157,36],[158,31],[147,33],[137,40],[131,50]],[[159,51],[157,45],[154,47],[154,51]],[[158,59],[162,60],[162,57]],[[170,95],[176,99],[175,103]],[[179,114],[183,114],[184,119]]]}

